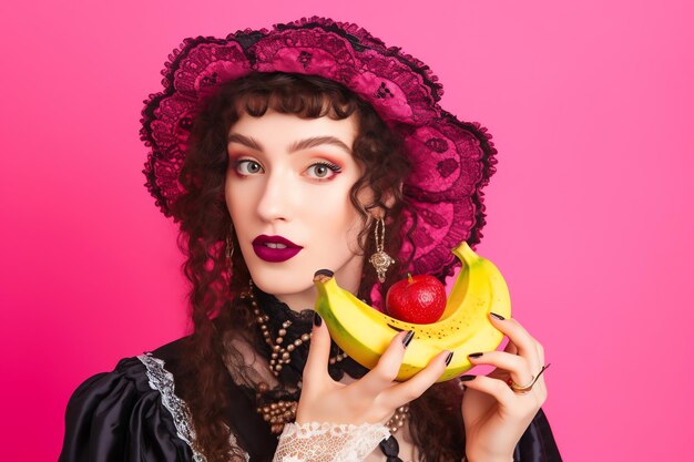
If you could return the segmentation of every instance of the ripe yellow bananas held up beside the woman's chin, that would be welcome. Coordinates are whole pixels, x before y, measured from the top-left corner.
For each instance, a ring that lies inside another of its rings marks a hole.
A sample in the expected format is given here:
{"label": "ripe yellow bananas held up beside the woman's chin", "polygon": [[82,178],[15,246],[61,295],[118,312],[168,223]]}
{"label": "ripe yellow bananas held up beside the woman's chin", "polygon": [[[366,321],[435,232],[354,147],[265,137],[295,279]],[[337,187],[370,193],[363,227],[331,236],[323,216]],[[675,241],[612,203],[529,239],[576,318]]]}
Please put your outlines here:
{"label": "ripe yellow bananas held up beside the woman's chin", "polygon": [[340,288],[333,273],[316,271],[316,311],[325,320],[330,337],[351,358],[374,368],[392,337],[414,330],[398,380],[407,380],[423,369],[442,350],[453,351],[451,362],[438,381],[460,376],[472,367],[468,355],[496,349],[503,335],[494,328],[489,314],[511,316],[511,300],[501,273],[489,260],[472,251],[466,242],[452,249],[462,268],[437,322],[418,325],[391,318]]}

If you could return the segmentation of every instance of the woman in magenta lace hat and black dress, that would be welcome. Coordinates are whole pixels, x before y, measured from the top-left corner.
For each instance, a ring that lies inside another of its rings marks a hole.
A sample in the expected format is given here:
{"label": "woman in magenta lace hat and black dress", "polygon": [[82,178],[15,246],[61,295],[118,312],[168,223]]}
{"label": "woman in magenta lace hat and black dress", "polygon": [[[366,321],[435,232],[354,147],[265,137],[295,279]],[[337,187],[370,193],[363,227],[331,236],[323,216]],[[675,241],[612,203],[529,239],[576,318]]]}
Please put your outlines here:
{"label": "woman in magenta lace hat and black dress", "polygon": [[438,106],[428,68],[313,18],[187,40],[164,75],[145,174],[181,224],[194,332],[84,382],[61,461],[560,460],[517,321],[491,318],[510,342],[470,357],[498,370],[463,392],[433,384],[450,352],[397,383],[408,332],[367,371],[310,310],[317,269],[378,306],[481,237],[496,151]]}

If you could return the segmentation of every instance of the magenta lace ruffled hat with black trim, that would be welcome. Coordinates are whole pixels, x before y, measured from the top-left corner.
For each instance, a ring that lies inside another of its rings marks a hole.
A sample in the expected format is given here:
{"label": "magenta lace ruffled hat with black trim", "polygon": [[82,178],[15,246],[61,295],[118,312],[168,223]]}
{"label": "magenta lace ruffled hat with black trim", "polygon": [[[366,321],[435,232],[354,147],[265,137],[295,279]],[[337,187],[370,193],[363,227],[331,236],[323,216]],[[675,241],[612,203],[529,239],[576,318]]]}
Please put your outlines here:
{"label": "magenta lace ruffled hat with black trim", "polygon": [[[222,83],[252,72],[319,75],[370,103],[406,143],[414,165],[404,194],[417,213],[411,271],[452,274],[451,248],[474,246],[484,225],[482,188],[497,151],[478,123],[443,111],[436,75],[421,61],[356,24],[325,18],[244,30],[225,39],[185,39],[162,71],[164,90],[145,101],[141,138],[150,147],[146,186],[164,215],[184,193],[178,173],[200,102]],[[406,240],[407,242],[407,240]],[[402,255],[412,250],[409,244]]]}

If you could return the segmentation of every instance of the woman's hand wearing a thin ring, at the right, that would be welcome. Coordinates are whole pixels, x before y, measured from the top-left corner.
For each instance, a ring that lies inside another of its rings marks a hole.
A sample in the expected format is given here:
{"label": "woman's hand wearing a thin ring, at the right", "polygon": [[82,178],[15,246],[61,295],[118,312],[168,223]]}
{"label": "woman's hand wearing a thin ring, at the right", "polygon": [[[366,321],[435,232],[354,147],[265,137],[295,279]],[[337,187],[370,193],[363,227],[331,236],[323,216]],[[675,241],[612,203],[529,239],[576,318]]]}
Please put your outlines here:
{"label": "woman's hand wearing a thin ring, at the right", "polygon": [[[467,387],[461,407],[466,453],[471,462],[511,461],[518,441],[547,400],[544,377],[537,377],[544,365],[540,342],[514,319],[490,319],[509,343],[503,351],[470,357],[473,365],[496,366],[489,376],[461,377]],[[537,381],[531,391],[521,394],[508,386],[509,377],[521,387]]]}

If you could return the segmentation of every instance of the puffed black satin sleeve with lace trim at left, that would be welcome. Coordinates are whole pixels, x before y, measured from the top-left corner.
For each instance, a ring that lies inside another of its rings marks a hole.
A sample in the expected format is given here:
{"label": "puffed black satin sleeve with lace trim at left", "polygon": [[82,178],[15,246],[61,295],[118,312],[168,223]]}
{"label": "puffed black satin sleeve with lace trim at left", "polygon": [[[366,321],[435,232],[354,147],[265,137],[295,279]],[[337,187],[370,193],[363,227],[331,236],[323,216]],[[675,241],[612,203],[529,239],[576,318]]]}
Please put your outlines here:
{"label": "puffed black satin sleeve with lace trim at left", "polygon": [[155,360],[123,359],[114,371],[96,374],[76,389],[68,403],[59,462],[197,459],[186,442],[186,429],[152,383],[156,377],[147,376],[147,359]]}

